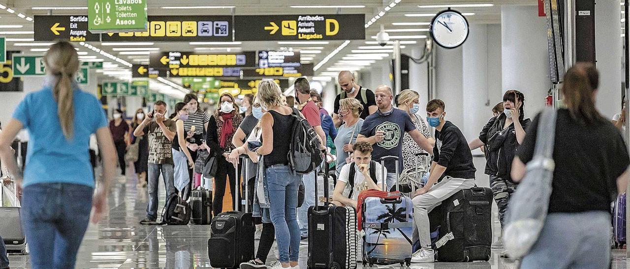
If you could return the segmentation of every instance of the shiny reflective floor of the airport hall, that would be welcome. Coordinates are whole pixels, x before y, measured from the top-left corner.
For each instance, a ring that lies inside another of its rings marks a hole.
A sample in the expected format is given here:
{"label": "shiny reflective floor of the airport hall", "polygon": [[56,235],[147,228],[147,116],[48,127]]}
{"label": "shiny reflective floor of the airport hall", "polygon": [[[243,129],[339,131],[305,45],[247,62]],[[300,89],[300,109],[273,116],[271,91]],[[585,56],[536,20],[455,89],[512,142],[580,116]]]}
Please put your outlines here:
{"label": "shiny reflective floor of the airport hall", "polygon": [[[138,224],[146,214],[147,194],[146,189],[136,187],[136,182],[135,177],[118,178],[110,194],[109,214],[99,224],[90,224],[76,268],[211,268],[207,254],[209,226]],[[160,206],[163,206],[163,186],[160,189]],[[306,248],[302,245],[300,249],[301,268],[306,268]],[[517,261],[499,258],[499,254],[500,250],[494,250],[490,261],[413,264],[411,268],[518,268]],[[277,255],[274,248],[268,264]],[[612,268],[627,268],[625,250],[613,250],[613,255]],[[28,256],[10,253],[9,261],[11,268],[31,268]]]}

